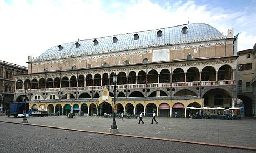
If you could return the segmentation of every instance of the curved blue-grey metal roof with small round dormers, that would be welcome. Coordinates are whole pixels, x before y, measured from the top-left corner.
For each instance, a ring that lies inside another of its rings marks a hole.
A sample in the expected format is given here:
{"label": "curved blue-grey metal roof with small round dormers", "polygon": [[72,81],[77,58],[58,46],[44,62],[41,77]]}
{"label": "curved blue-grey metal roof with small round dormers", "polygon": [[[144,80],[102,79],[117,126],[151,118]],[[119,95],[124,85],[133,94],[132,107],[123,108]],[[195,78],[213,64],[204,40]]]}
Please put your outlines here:
{"label": "curved blue-grey metal roof with small round dormers", "polygon": [[[187,27],[187,33],[182,33],[182,28]],[[162,36],[157,37],[157,32],[161,30]],[[139,35],[138,40],[134,40],[134,34]],[[113,37],[118,41],[113,43]],[[94,45],[94,40],[98,41]],[[221,33],[214,27],[204,23],[193,23],[178,25],[175,27],[161,28],[156,30],[148,30],[127,34],[120,34],[108,37],[93,38],[78,41],[79,47],[76,47],[76,42],[61,44],[62,50],[59,50],[59,45],[54,46],[39,56],[40,58],[61,58],[63,56],[82,56],[100,53],[111,53],[131,49],[143,49],[153,46],[174,45],[191,42],[205,41],[206,39],[221,39]]]}

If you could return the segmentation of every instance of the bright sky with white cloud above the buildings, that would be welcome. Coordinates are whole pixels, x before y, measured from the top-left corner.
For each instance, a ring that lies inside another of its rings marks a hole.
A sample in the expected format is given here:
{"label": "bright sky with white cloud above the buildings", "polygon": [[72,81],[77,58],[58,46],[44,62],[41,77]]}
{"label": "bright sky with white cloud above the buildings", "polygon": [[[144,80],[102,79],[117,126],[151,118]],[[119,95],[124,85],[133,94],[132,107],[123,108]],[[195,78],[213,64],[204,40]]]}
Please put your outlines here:
{"label": "bright sky with white cloud above the buildings", "polygon": [[0,60],[28,67],[28,56],[67,42],[205,23],[234,29],[238,50],[256,43],[256,0],[0,0]]}

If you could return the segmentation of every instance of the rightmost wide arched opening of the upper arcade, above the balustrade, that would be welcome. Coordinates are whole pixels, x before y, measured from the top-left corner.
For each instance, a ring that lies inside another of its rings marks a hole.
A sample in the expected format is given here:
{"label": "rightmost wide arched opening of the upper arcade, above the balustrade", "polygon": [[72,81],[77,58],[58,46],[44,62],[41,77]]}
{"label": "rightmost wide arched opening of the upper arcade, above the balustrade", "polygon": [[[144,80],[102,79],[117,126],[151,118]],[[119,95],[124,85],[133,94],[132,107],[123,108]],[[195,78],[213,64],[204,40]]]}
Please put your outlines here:
{"label": "rightmost wide arched opening of the upper arcade, above the balustrade", "polygon": [[223,65],[218,70],[218,80],[230,80],[233,79],[233,70],[229,65]]}

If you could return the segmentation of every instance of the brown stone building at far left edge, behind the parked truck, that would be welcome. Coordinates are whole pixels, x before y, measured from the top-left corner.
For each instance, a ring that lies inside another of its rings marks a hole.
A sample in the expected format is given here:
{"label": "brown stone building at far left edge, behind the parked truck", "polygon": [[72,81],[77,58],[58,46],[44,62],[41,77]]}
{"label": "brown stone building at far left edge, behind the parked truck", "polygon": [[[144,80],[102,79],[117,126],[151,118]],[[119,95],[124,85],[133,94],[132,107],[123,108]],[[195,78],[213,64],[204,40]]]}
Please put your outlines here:
{"label": "brown stone building at far left edge, behind the parked truck", "polygon": [[14,100],[14,75],[27,73],[28,69],[25,66],[0,61],[0,112],[5,112],[9,108],[9,103]]}

